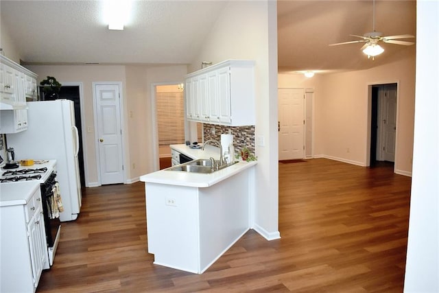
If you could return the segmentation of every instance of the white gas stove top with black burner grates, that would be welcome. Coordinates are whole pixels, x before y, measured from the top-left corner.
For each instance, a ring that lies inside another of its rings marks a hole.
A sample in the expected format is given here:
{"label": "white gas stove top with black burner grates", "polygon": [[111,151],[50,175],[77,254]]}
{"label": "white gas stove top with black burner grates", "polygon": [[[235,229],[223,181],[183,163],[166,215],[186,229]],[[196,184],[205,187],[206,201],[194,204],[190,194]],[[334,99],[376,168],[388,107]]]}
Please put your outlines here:
{"label": "white gas stove top with black burner grates", "polygon": [[39,180],[45,183],[54,172],[56,160],[35,161],[32,166],[20,166],[14,169],[0,169],[0,183],[19,183],[22,181]]}

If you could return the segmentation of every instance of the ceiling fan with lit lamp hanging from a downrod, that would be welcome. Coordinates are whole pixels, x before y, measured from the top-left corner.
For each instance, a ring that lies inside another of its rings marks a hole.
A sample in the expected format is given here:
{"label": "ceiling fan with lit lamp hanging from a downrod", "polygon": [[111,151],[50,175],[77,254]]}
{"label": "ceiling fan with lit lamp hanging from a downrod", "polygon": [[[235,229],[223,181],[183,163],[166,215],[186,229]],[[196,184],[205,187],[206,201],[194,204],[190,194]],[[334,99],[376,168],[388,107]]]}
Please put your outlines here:
{"label": "ceiling fan with lit lamp hanging from a downrod", "polygon": [[399,38],[414,38],[411,34],[400,34],[397,36],[383,36],[381,32],[375,31],[375,0],[373,0],[373,32],[368,32],[364,34],[363,36],[358,36],[356,34],[351,34],[350,36],[355,36],[357,38],[362,38],[362,40],[352,40],[350,42],[344,42],[344,43],[335,43],[331,44],[329,46],[338,46],[338,45],[346,45],[346,44],[353,44],[353,43],[366,43],[363,47],[361,47],[361,50],[364,54],[370,58],[372,56],[372,60],[375,60],[375,56],[383,53],[384,49],[381,47],[378,43],[389,43],[389,44],[396,44],[396,45],[405,45],[410,46],[414,45],[414,42],[407,42],[406,40],[396,40]]}

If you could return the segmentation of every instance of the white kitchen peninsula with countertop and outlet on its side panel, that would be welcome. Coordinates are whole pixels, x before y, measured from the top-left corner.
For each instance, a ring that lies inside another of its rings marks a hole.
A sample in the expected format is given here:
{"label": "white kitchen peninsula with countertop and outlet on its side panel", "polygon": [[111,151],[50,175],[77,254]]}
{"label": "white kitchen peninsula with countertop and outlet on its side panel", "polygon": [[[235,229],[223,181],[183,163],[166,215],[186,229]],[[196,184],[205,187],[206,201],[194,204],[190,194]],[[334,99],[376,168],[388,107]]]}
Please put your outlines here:
{"label": "white kitchen peninsula with countertop and outlet on its side panel", "polygon": [[[219,156],[212,146],[205,151],[174,147],[193,159],[209,159],[212,152]],[[252,222],[256,164],[239,161],[209,174],[168,168],[141,176],[154,263],[201,274],[244,235]]]}

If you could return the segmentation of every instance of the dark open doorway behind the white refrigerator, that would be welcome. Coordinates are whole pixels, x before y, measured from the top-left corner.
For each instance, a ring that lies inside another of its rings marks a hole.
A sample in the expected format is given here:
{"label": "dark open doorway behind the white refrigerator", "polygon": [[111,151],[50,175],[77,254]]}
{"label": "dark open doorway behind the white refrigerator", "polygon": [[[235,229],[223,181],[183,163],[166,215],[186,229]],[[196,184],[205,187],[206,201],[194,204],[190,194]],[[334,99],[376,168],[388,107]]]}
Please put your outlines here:
{"label": "dark open doorway behind the white refrigerator", "polygon": [[80,150],[78,152],[78,165],[80,168],[80,181],[81,187],[86,186],[85,182],[85,167],[84,167],[84,143],[82,137],[82,112],[81,112],[81,95],[82,95],[82,84],[78,82],[61,82],[62,86],[60,93],[58,93],[58,98],[56,97],[45,97],[40,86],[40,97],[43,101],[53,101],[54,99],[69,99],[73,101],[73,106],[75,108],[75,126],[78,128],[78,134],[80,139]]}

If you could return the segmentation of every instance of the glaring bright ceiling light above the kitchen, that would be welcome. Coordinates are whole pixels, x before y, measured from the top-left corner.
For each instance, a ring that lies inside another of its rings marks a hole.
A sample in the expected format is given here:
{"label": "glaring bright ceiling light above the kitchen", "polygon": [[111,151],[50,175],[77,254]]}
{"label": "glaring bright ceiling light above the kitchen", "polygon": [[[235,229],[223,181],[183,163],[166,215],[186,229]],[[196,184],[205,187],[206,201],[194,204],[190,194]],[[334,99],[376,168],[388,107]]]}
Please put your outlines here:
{"label": "glaring bright ceiling light above the kitchen", "polygon": [[131,3],[128,0],[106,0],[105,17],[108,30],[123,30],[130,17]]}

